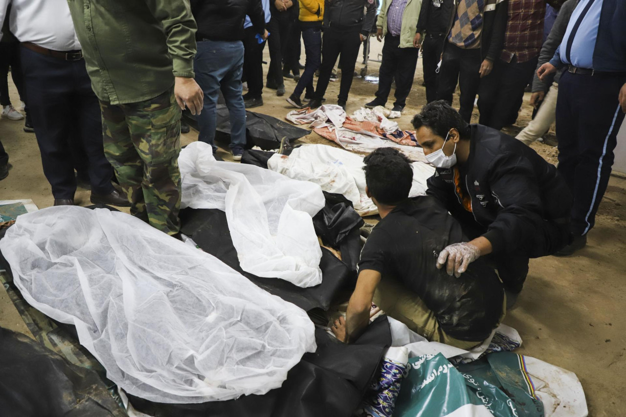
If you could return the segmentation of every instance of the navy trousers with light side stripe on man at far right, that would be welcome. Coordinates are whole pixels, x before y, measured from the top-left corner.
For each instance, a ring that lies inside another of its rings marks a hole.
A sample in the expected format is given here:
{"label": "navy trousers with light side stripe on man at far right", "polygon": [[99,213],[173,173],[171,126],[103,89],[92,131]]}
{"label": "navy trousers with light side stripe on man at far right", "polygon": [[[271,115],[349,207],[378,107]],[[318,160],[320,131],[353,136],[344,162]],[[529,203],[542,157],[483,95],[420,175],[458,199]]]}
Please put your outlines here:
{"label": "navy trousers with light side stripe on man at far right", "polygon": [[624,113],[618,96],[626,73],[563,73],[558,86],[558,171],[574,196],[572,232],[592,229],[607,190]]}

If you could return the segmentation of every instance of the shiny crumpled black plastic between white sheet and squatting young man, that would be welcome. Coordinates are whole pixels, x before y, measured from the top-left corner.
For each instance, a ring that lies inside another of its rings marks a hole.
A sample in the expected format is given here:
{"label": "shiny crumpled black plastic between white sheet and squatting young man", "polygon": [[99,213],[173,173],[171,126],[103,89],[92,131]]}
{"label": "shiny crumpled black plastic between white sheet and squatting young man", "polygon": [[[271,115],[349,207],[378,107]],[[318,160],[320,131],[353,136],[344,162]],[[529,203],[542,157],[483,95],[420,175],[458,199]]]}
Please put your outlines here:
{"label": "shiny crumpled black plastic between white sheet and squatting young man", "polygon": [[356,272],[356,265],[361,254],[361,233],[359,229],[365,223],[352,207],[352,202],[341,194],[324,192],[326,205],[313,217],[316,234],[324,245],[341,252],[341,260],[351,271]]}

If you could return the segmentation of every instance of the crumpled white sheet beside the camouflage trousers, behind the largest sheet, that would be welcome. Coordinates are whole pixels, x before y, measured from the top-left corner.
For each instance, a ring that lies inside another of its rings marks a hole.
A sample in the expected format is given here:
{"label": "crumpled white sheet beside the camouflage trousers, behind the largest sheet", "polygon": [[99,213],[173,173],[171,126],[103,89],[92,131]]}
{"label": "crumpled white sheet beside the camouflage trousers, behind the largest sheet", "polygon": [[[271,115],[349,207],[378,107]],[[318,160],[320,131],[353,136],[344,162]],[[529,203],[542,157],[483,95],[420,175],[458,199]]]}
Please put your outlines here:
{"label": "crumpled white sheet beside the camouflage trousers, behind the largest sheet", "polygon": [[210,145],[193,142],[178,158],[182,207],[226,213],[243,270],[299,287],[322,282],[322,250],[312,216],[324,207],[319,185],[234,162],[218,162]]}

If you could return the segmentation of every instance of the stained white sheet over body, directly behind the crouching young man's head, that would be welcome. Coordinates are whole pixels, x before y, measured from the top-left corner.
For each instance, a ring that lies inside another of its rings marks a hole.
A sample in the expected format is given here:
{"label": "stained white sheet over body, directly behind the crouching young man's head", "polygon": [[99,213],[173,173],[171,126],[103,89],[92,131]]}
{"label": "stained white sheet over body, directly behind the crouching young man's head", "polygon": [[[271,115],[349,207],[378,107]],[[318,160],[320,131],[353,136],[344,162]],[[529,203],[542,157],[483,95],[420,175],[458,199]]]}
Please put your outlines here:
{"label": "stained white sheet over body, directly behind the crouching young man's head", "polygon": [[[361,216],[374,215],[378,209],[365,192],[363,157],[346,150],[327,145],[302,145],[289,157],[272,155],[267,168],[289,178],[314,182],[329,193],[344,195]],[[423,162],[413,162],[413,185],[410,197],[426,195],[426,180],[434,168]]]}

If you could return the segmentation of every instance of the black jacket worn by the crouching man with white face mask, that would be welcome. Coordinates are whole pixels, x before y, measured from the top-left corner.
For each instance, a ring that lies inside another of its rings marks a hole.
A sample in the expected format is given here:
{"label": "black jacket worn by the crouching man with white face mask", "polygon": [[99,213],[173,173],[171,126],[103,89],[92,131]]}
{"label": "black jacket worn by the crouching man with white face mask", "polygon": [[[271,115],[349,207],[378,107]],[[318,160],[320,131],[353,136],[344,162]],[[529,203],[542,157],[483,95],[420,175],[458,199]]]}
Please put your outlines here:
{"label": "black jacket worn by the crouching man with white face mask", "polygon": [[498,130],[469,125],[469,131],[469,158],[460,182],[472,212],[461,203],[454,168],[437,168],[428,178],[427,193],[444,203],[470,239],[486,237],[495,254],[535,257],[553,251],[562,242],[546,242],[555,239],[550,233],[555,222],[549,220],[564,223],[572,207],[572,193],[557,168]]}

